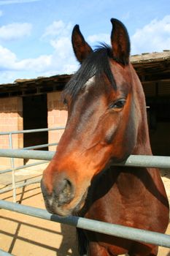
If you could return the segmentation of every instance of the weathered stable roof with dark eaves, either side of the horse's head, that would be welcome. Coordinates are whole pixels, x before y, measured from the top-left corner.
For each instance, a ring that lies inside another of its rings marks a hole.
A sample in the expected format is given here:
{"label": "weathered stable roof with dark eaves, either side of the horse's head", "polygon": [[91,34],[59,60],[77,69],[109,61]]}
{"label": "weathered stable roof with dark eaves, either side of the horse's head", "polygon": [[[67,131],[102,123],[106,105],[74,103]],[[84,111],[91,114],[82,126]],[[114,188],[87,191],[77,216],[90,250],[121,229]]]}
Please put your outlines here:
{"label": "weathered stable roof with dark eaves, either side of the horse's head", "polygon": [[[170,81],[170,50],[131,56],[131,63],[143,85],[155,80]],[[42,94],[61,90],[71,77],[72,75],[54,75],[48,78],[18,79],[14,83],[0,84],[0,97]]]}

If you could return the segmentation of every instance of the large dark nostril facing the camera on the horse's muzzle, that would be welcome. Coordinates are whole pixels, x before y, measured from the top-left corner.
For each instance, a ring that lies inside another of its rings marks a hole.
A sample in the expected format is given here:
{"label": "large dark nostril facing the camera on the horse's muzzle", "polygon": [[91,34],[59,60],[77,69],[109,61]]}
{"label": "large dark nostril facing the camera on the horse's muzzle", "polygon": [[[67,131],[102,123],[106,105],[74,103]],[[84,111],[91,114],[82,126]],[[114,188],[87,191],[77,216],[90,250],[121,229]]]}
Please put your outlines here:
{"label": "large dark nostril facing the camera on the horse's muzzle", "polygon": [[58,191],[58,187],[55,188],[55,196],[58,197],[58,205],[69,203],[74,197],[74,187],[72,182],[66,178],[61,181],[59,190],[60,191]]}

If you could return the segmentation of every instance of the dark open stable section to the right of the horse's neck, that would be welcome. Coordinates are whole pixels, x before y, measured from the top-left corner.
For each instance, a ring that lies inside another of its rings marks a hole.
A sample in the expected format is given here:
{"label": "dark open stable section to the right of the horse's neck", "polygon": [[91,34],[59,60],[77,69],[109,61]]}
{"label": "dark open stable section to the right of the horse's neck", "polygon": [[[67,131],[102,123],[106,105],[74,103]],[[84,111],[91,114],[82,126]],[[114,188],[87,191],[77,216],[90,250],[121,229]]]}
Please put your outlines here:
{"label": "dark open stable section to the right of the horse's neck", "polygon": [[154,155],[170,156],[170,50],[131,56],[147,102]]}

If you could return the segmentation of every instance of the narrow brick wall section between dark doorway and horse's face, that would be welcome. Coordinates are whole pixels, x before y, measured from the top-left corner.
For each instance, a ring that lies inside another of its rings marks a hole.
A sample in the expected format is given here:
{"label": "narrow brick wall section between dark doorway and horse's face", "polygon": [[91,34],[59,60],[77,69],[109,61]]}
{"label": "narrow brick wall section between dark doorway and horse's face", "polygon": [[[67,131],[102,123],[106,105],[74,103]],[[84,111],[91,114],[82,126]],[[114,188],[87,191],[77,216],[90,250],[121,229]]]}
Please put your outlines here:
{"label": "narrow brick wall section between dark doorway and horse's face", "polygon": [[[66,125],[67,110],[61,99],[61,91],[47,94],[47,122],[48,128],[63,127]],[[63,130],[50,131],[48,133],[48,143],[58,143],[63,134]],[[50,151],[55,151],[56,146],[50,146]]]}

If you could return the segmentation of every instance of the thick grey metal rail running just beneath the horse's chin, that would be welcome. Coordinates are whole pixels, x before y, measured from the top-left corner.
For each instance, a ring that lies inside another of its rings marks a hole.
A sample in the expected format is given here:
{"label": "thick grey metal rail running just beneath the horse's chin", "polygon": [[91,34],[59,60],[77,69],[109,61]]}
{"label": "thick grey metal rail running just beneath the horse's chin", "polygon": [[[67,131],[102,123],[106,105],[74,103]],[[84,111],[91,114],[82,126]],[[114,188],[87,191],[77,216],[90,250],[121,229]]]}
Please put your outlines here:
{"label": "thick grey metal rail running just beneath the horse's chin", "polygon": [[85,230],[127,238],[134,241],[142,241],[147,244],[156,244],[163,247],[170,247],[170,236],[157,232],[140,230],[134,227],[125,227],[107,222],[99,222],[93,219],[85,219],[82,217],[59,217],[55,214],[49,214],[46,210],[43,209],[34,208],[31,206],[22,206],[18,203],[11,203],[5,200],[0,200],[0,207],[9,211],[16,211],[18,213],[27,214],[33,217],[47,219],[66,225],[72,225],[74,227],[80,227]]}

